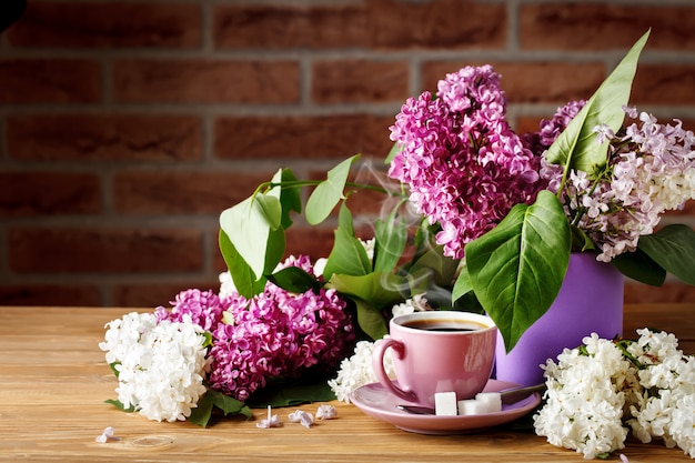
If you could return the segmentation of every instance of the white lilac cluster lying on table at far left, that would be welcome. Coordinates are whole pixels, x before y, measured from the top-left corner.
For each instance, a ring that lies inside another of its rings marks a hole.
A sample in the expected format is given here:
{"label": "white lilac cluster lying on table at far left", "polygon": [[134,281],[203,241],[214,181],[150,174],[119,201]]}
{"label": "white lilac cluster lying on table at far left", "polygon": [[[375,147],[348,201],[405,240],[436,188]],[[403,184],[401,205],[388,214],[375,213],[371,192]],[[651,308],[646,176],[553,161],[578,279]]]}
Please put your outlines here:
{"label": "white lilac cluster lying on table at far left", "polygon": [[188,318],[162,320],[151,313],[130,313],[109,323],[107,361],[118,372],[119,402],[150,420],[185,420],[205,392],[209,369],[205,336]]}

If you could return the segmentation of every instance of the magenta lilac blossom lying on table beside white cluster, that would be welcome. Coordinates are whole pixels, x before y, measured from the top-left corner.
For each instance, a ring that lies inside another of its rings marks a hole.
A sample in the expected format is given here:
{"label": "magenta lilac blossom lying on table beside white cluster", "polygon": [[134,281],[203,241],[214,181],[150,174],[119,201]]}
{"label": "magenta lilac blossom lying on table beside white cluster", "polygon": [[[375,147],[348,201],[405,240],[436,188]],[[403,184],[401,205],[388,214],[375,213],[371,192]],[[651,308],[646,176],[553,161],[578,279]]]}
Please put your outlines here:
{"label": "magenta lilac blossom lying on table beside white cluster", "polygon": [[[284,265],[313,273],[308,256]],[[212,333],[209,383],[241,401],[271,379],[336,366],[354,339],[346,304],[334,290],[293,294],[269,282],[263,293],[250,300],[236,295],[229,303],[228,323]]]}

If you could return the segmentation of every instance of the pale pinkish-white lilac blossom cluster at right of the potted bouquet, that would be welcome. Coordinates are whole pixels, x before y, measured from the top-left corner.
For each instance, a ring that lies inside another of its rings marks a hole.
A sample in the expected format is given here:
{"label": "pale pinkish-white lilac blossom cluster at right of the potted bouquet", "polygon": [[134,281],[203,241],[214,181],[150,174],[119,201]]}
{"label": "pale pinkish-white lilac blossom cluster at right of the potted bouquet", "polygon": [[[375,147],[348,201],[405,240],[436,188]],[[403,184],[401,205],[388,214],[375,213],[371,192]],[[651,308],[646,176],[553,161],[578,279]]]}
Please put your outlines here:
{"label": "pale pinkish-white lilac blossom cluster at right of the potted bouquet", "polygon": [[[615,134],[596,129],[611,143],[607,168],[596,179],[572,171],[561,195],[570,220],[597,245],[597,259],[604,262],[634,251],[639,236],[654,232],[663,212],[695,199],[693,132],[677,120],[675,125],[659,124],[646,112],[625,111],[639,123]],[[541,177],[548,190],[557,192],[562,174],[562,167],[543,162]]]}

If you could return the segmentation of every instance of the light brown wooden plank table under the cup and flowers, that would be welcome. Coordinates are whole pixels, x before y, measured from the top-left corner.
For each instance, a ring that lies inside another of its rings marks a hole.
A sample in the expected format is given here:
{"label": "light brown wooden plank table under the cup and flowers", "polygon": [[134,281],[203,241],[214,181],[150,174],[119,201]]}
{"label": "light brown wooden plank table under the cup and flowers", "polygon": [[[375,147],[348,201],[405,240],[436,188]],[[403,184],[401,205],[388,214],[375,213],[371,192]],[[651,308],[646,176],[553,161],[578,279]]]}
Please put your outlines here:
{"label": "light brown wooden plank table under the cup and flowers", "polygon": [[[311,429],[261,430],[228,419],[201,429],[158,423],[105,404],[117,381],[98,343],[105,322],[132,309],[0,306],[0,461],[39,462],[582,462],[532,432],[497,427],[469,435],[429,436],[401,431],[335,402],[339,417]],[[147,310],[143,310],[147,311]],[[695,352],[695,304],[628,305],[626,334],[658,326]],[[316,405],[302,409],[315,412]],[[265,412],[255,411],[256,417]],[[98,443],[113,426],[120,441]],[[679,449],[629,442],[632,463],[689,461]],[[612,459],[617,460],[617,456]]]}

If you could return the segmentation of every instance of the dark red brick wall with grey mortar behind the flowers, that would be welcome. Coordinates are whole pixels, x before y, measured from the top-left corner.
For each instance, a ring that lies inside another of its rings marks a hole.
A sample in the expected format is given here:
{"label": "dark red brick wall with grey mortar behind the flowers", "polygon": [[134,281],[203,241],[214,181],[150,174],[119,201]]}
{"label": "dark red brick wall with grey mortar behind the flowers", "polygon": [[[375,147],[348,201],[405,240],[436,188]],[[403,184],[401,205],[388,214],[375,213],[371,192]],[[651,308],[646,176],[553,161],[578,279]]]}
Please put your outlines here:
{"label": "dark red brick wall with grey mortar behind the flowers", "polygon": [[[633,103],[695,129],[687,0],[29,0],[0,34],[0,304],[216,289],[218,214],[276,169],[382,158],[402,102],[465,64],[494,64],[532,130],[649,27]],[[331,240],[299,224],[289,245]]]}

